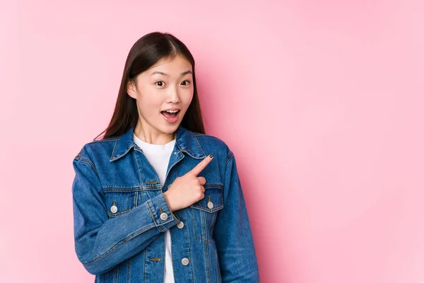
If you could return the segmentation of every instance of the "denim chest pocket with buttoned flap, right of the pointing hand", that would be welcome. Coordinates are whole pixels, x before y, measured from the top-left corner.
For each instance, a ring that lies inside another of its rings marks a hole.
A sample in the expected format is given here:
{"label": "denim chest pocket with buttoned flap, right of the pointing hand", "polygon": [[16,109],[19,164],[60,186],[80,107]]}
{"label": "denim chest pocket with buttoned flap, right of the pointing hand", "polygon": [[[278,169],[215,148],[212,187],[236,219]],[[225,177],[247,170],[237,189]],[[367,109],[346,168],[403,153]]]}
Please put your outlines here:
{"label": "denim chest pocket with buttoned flap, right of the pointing hand", "polygon": [[205,197],[190,206],[194,238],[212,243],[216,214],[223,208],[223,185],[205,185]]}

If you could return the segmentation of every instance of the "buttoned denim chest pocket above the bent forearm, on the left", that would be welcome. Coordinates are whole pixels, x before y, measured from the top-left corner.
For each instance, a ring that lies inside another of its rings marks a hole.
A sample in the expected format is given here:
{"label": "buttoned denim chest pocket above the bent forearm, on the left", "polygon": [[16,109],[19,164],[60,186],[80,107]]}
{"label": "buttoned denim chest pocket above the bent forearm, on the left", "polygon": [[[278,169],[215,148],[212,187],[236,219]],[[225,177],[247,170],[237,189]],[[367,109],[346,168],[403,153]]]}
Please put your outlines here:
{"label": "buttoned denim chest pocket above the bent forearm, on the left", "polygon": [[125,188],[103,189],[107,216],[116,217],[136,207],[138,192]]}

